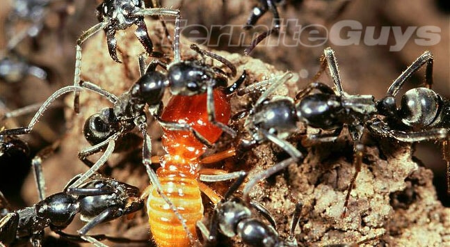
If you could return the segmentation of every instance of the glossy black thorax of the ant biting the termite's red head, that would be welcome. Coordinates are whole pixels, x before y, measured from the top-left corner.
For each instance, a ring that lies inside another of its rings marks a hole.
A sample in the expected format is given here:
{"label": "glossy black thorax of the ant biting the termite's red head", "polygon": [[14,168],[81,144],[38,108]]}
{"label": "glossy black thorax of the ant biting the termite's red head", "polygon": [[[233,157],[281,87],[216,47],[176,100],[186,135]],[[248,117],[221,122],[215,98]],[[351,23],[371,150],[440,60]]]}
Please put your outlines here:
{"label": "glossy black thorax of the ant biting the termite's red head", "polygon": [[131,94],[152,106],[161,102],[167,86],[168,80],[165,74],[159,71],[146,72],[131,89]]}

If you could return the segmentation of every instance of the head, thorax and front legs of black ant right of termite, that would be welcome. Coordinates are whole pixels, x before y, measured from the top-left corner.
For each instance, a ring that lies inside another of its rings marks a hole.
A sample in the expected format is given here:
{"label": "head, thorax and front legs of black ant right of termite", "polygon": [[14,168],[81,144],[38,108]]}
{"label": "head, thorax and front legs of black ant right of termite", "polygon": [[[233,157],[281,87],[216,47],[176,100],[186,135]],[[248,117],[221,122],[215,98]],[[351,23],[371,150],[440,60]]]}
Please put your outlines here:
{"label": "head, thorax and front legs of black ant right of termite", "polygon": [[[272,141],[291,156],[291,162],[295,162],[302,158],[303,155],[293,145],[283,139],[289,134],[296,132],[297,122],[303,122],[310,127],[332,131],[331,133],[308,136],[320,141],[335,140],[341,133],[344,125],[347,125],[353,139],[356,170],[360,170],[364,152],[364,145],[361,142],[362,132],[365,123],[372,115],[378,113],[376,102],[372,95],[346,95],[341,86],[334,51],[327,48],[324,50],[324,54],[325,59],[323,59],[322,69],[324,70],[328,64],[339,95],[336,95],[330,86],[314,82],[297,93],[295,102],[289,97],[281,96],[267,99],[268,95],[275,88],[287,81],[286,76],[278,79],[259,97],[255,106],[250,110],[244,127],[250,132],[251,140],[242,140],[241,145],[243,147],[252,146],[262,141]],[[268,81],[262,81],[257,84],[264,85],[267,83]],[[260,85],[252,86],[252,88],[257,86]],[[248,88],[244,89],[243,92],[245,90],[248,91]],[[319,93],[312,93],[313,90],[318,90]],[[282,162],[287,162],[290,159]],[[357,173],[355,173],[356,175]],[[353,177],[351,186],[348,189],[346,203],[344,204],[344,214],[354,180],[355,177]]]}

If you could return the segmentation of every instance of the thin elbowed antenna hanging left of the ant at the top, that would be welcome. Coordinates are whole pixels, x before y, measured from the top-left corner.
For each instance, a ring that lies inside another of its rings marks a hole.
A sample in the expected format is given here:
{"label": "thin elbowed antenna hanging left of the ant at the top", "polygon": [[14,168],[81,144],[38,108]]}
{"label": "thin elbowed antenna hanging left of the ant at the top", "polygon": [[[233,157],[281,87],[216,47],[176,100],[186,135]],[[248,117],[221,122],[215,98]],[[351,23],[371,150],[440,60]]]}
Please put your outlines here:
{"label": "thin elbowed antenna hanging left of the ant at the top", "polygon": [[[75,55],[75,72],[74,72],[74,86],[79,86],[80,82],[80,74],[81,74],[81,45],[85,42],[90,36],[94,35],[98,31],[104,29],[108,25],[107,22],[100,22],[95,24],[93,27],[88,29],[86,32],[80,35],[77,39],[77,53]],[[75,93],[74,98],[74,111],[76,113],[80,112],[80,103],[79,103],[79,92]]]}

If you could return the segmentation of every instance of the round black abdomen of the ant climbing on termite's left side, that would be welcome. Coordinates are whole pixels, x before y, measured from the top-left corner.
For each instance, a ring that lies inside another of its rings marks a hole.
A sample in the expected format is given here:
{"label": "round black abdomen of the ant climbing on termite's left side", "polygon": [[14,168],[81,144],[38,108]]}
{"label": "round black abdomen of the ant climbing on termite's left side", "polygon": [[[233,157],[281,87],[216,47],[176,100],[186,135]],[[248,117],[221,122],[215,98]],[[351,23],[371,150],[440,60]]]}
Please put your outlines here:
{"label": "round black abdomen of the ant climbing on termite's left side", "polygon": [[105,108],[91,115],[84,123],[83,133],[86,140],[95,145],[105,141],[118,132],[119,122],[112,108]]}

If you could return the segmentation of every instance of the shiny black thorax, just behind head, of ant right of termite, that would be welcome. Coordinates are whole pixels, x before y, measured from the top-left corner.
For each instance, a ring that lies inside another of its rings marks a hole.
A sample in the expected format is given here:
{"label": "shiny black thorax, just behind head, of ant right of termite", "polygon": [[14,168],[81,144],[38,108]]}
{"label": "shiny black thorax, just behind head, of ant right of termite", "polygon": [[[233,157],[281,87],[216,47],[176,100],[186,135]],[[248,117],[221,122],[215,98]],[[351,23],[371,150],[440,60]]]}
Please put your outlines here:
{"label": "shiny black thorax, just behind head, of ant right of termite", "polygon": [[314,128],[336,129],[341,126],[339,113],[344,111],[338,97],[326,93],[306,95],[296,105],[298,120]]}

